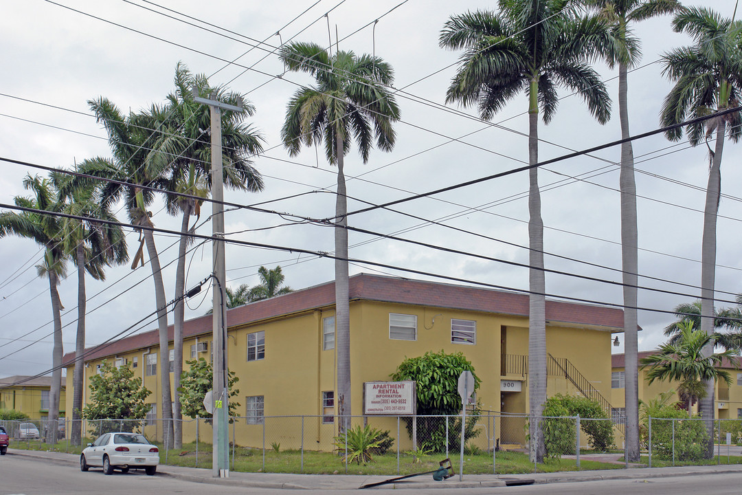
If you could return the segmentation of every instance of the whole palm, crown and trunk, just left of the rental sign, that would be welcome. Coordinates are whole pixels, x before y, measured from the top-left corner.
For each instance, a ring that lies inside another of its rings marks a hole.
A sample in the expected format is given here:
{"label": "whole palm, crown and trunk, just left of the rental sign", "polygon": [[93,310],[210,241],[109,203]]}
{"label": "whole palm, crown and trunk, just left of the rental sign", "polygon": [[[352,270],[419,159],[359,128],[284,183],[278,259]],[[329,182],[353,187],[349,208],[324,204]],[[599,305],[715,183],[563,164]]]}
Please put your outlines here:
{"label": "whole palm, crown and trunk, just left of the rental sign", "polygon": [[[347,197],[344,157],[352,138],[367,163],[376,139],[383,151],[394,147],[393,122],[399,108],[389,91],[394,82],[392,67],[376,56],[356,56],[338,50],[330,56],[315,43],[293,42],[284,46],[280,58],[289,71],[314,76],[314,87],[300,88],[286,108],[281,128],[283,145],[295,157],[302,145],[324,142],[329,163],[338,167],[335,201],[335,324],[338,359],[338,413],[352,413],[350,403],[350,304],[348,280]],[[344,427],[341,425],[341,431]]]}

